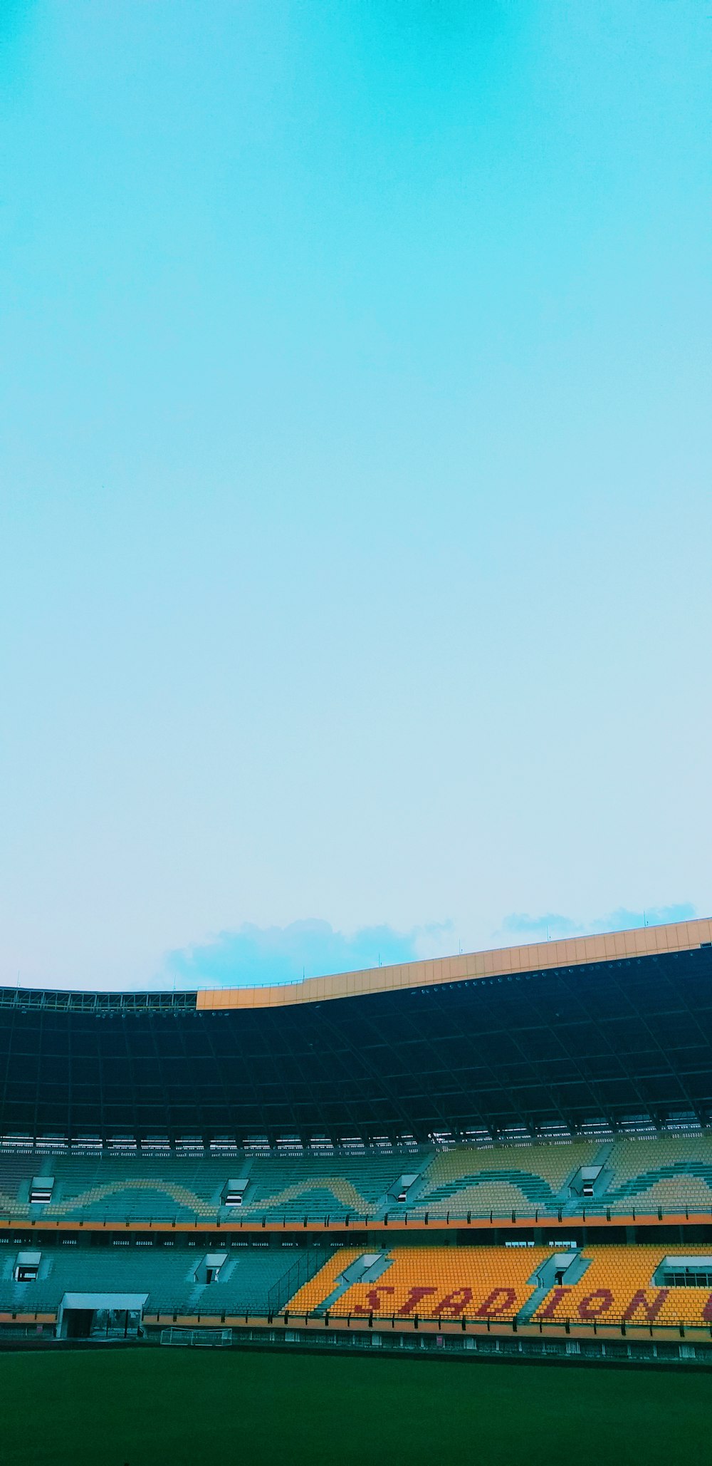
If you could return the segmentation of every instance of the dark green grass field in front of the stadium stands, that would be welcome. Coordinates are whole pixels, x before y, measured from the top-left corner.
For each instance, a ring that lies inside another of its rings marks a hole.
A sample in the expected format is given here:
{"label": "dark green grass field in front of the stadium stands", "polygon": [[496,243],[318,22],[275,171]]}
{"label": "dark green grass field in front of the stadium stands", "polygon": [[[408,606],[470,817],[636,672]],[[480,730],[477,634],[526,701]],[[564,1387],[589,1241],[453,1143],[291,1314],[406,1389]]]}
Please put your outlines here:
{"label": "dark green grass field in front of the stadium stands", "polygon": [[0,1353],[1,1466],[712,1462],[712,1375],[129,1349]]}

